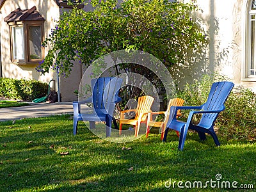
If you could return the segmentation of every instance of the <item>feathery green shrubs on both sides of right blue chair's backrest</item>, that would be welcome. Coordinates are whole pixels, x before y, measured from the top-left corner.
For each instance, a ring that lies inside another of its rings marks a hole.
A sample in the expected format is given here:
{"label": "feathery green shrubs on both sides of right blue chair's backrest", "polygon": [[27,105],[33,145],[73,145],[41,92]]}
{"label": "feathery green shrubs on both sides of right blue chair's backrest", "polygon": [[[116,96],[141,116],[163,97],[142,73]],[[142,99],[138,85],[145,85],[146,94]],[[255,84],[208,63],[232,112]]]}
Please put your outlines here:
{"label": "feathery green shrubs on both sides of right blue chair's backrest", "polygon": [[[186,84],[184,90],[178,92],[178,97],[185,100],[184,106],[200,106],[206,102],[212,83],[227,81],[224,76],[208,76]],[[225,102],[225,110],[218,116],[214,129],[227,139],[256,140],[256,95],[249,89],[234,88]],[[188,118],[188,111],[183,112]],[[198,122],[196,115],[193,122]]]}

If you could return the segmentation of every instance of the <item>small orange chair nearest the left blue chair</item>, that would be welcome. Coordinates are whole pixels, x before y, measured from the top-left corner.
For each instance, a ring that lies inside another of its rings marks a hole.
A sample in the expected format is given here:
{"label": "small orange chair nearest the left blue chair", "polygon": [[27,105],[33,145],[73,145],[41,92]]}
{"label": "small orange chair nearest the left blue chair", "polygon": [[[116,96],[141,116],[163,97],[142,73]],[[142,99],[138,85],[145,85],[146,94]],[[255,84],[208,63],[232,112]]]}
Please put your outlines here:
{"label": "small orange chair nearest the left blue chair", "polygon": [[[153,104],[154,98],[151,96],[142,96],[138,98],[136,109],[129,109],[120,112],[119,134],[122,134],[122,125],[129,124],[135,126],[135,136],[137,137],[140,131],[140,124],[147,124],[147,115]],[[134,111],[135,117],[133,119],[125,118],[125,113]]]}

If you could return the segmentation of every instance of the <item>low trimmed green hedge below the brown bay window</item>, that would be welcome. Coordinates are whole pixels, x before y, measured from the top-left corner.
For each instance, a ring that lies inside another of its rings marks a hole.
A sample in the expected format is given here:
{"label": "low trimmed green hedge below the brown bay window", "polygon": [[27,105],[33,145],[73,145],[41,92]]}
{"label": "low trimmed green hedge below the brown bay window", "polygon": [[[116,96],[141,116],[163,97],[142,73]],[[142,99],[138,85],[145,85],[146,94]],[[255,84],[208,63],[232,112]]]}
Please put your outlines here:
{"label": "low trimmed green hedge below the brown bay window", "polygon": [[47,95],[48,84],[36,80],[0,78],[0,97],[28,100]]}

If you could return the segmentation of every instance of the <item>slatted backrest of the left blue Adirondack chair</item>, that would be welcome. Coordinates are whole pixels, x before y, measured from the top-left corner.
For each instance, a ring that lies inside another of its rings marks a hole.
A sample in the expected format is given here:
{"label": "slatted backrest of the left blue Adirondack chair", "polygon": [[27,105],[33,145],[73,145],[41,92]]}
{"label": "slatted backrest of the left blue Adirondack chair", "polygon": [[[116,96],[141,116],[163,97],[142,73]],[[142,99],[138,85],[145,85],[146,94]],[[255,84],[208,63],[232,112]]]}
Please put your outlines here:
{"label": "slatted backrest of the left blue Adirondack chair", "polygon": [[93,109],[96,113],[113,114],[115,100],[122,85],[122,78],[100,77],[92,79]]}

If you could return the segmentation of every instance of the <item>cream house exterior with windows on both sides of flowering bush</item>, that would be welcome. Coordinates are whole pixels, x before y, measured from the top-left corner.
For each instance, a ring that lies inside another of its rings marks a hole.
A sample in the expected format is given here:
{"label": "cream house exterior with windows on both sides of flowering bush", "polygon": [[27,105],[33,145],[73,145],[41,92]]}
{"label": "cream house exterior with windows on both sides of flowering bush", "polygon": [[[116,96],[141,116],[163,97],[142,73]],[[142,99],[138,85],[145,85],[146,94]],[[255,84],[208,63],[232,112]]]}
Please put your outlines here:
{"label": "cream house exterior with windows on both sides of flowering bush", "polygon": [[[182,77],[173,79],[182,86],[202,74],[218,72],[228,76],[236,86],[251,88],[256,93],[255,0],[197,0],[196,4],[202,12],[196,12],[195,17],[202,19],[204,28],[209,30],[209,47],[205,47],[204,58],[198,63],[174,67],[173,74],[180,73]],[[83,4],[79,6],[90,9]],[[35,67],[48,51],[47,47],[39,47],[38,42],[51,34],[54,20],[62,13],[61,7],[70,9],[64,0],[0,0],[1,77],[56,80],[55,72],[41,76]],[[62,101],[77,99],[74,91],[78,90],[84,69],[75,66],[69,77],[60,77]],[[55,90],[56,83],[52,84]]]}

